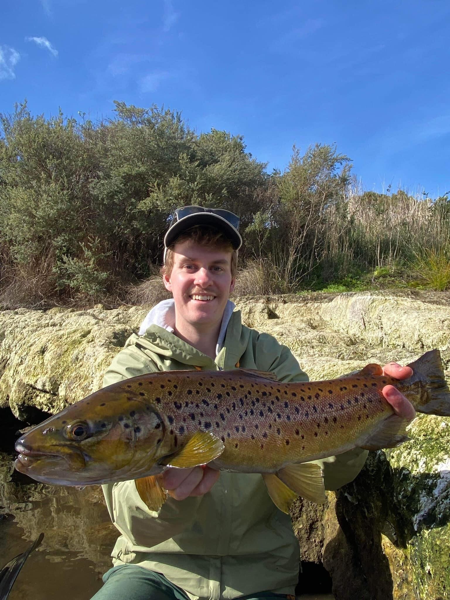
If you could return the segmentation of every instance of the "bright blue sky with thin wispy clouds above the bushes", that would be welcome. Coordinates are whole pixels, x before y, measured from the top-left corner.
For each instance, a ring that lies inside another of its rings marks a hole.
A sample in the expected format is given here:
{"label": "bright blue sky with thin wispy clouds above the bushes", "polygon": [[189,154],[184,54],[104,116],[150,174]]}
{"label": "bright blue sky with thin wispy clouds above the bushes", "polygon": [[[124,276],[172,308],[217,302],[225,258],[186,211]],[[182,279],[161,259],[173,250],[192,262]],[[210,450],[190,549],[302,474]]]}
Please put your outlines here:
{"label": "bright blue sky with thin wispy clouds above the bushes", "polygon": [[164,104],[268,170],[335,142],[365,189],[450,190],[449,0],[3,0],[0,22],[0,112]]}

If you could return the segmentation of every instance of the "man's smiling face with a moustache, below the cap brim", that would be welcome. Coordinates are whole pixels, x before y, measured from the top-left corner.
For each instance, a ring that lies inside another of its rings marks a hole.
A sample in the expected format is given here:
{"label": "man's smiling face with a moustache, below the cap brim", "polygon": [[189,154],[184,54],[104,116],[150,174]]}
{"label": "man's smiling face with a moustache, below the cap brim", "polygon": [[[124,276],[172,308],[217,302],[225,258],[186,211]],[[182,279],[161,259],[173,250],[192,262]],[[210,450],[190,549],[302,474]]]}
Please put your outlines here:
{"label": "man's smiling face with a moustache, below the cap brim", "polygon": [[220,324],[235,287],[231,253],[189,240],[175,244],[172,272],[163,279],[175,300],[177,329],[184,324],[213,328]]}

